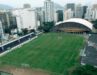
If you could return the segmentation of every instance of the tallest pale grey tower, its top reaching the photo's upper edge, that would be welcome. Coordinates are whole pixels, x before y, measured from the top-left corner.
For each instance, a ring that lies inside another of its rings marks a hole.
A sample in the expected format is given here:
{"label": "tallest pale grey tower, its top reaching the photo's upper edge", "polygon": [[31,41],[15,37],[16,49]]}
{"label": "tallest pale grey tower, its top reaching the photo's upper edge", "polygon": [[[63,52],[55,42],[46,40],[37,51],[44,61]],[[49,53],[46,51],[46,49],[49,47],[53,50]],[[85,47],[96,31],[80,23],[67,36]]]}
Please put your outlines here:
{"label": "tallest pale grey tower, its top reaching the photo's upper edge", "polygon": [[45,22],[54,21],[54,3],[51,0],[44,2]]}

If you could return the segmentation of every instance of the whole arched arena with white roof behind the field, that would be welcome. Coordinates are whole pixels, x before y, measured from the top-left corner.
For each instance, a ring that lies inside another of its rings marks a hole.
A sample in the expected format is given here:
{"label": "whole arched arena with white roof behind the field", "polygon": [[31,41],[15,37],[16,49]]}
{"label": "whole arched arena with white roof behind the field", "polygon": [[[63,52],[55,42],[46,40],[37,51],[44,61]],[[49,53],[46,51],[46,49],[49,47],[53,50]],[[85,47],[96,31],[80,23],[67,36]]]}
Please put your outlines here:
{"label": "whole arched arena with white roof behind the field", "polygon": [[93,24],[87,20],[73,18],[66,21],[56,23],[53,31],[57,32],[92,32]]}

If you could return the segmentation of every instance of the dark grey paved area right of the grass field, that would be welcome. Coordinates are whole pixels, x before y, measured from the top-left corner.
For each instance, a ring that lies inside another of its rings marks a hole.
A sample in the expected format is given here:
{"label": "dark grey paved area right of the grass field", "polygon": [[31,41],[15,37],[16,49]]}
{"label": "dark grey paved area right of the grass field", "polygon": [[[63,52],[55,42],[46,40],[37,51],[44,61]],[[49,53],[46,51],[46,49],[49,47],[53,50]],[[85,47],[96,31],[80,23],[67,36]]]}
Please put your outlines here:
{"label": "dark grey paved area right of the grass field", "polygon": [[81,63],[97,66],[97,34],[91,34]]}

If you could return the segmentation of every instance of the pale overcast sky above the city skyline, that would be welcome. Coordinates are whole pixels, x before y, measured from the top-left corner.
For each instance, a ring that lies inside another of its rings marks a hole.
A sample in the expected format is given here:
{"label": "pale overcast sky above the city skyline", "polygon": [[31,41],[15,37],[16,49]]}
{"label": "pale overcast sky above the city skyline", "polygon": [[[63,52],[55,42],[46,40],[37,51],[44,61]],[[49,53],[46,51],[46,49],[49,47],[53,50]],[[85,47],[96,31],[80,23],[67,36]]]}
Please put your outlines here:
{"label": "pale overcast sky above the city skyline", "polygon": [[[81,3],[83,5],[90,5],[97,3],[97,0],[52,0],[55,3],[64,6],[66,3]],[[31,7],[43,6],[44,0],[0,0],[0,4],[7,4],[15,8],[23,7],[23,4],[28,3]]]}

